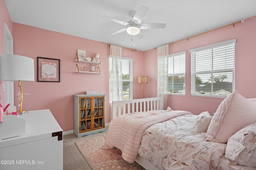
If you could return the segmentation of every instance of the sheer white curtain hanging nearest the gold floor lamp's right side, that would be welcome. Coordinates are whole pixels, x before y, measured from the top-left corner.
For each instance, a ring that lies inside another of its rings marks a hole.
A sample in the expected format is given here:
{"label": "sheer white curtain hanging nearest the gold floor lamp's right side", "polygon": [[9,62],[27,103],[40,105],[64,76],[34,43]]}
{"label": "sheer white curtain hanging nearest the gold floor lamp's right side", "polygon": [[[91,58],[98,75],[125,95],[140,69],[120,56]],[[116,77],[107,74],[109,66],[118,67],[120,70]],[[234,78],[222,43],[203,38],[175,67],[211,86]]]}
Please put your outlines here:
{"label": "sheer white curtain hanging nearest the gold floor lamp's right side", "polygon": [[164,96],[164,109],[167,103],[167,82],[168,82],[168,53],[169,45],[162,45],[157,48],[157,97]]}

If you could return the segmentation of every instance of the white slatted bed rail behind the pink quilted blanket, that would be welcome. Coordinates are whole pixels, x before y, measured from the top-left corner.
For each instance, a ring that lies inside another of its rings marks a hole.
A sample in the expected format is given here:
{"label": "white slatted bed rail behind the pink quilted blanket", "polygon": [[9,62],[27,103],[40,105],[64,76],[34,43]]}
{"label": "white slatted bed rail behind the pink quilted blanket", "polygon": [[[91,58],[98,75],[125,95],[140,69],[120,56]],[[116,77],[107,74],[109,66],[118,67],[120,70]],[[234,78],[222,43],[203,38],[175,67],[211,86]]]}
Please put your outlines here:
{"label": "white slatted bed rail behind the pink quilted blanket", "polygon": [[111,120],[119,115],[133,113],[135,111],[162,110],[164,107],[164,98],[144,98],[134,100],[121,100],[112,102]]}

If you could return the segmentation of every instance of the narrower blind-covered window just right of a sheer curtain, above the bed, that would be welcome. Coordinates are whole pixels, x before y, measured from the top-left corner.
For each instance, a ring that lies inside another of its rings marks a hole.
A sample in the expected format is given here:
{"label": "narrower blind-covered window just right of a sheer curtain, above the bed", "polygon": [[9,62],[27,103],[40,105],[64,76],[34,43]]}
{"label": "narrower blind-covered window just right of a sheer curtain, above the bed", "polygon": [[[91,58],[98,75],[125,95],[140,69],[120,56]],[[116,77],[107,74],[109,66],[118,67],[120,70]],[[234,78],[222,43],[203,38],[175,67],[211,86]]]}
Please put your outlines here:
{"label": "narrower blind-covered window just right of a sheer curtain, above the bed", "polygon": [[168,55],[168,93],[185,94],[186,51]]}

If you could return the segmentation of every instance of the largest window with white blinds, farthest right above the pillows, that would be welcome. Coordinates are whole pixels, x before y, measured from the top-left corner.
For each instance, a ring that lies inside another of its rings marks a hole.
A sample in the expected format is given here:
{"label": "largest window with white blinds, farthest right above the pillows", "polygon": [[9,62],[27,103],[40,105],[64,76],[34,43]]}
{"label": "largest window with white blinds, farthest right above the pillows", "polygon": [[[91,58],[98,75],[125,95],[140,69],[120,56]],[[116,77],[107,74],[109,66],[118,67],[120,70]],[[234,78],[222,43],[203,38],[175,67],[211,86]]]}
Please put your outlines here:
{"label": "largest window with white blinds, farthest right above the pillows", "polygon": [[235,86],[236,39],[191,49],[191,94],[228,96]]}

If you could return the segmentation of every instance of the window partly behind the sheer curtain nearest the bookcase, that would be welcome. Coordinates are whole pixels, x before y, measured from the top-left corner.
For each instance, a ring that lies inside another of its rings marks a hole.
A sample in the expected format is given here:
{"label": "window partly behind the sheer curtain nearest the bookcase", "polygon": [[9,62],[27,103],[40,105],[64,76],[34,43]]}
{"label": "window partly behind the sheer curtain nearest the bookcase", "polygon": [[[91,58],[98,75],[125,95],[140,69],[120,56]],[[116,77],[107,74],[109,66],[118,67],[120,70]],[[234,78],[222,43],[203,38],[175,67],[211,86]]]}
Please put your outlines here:
{"label": "window partly behind the sheer curtain nearest the bookcase", "polygon": [[[111,60],[111,58],[109,58]],[[122,85],[124,100],[132,100],[132,61],[133,59],[122,57]],[[109,62],[111,63],[111,61]],[[109,70],[111,66],[109,66]]]}

